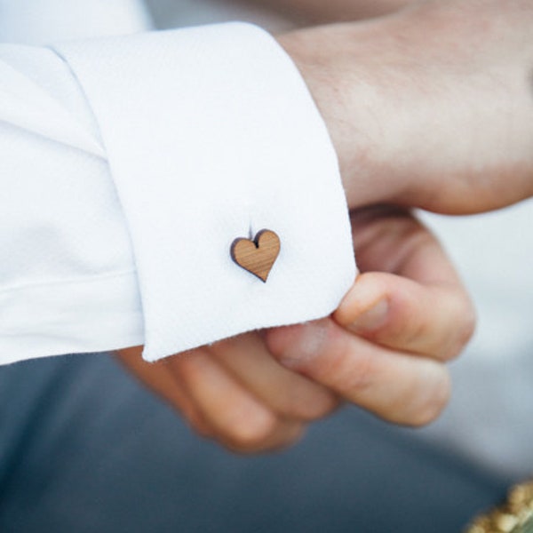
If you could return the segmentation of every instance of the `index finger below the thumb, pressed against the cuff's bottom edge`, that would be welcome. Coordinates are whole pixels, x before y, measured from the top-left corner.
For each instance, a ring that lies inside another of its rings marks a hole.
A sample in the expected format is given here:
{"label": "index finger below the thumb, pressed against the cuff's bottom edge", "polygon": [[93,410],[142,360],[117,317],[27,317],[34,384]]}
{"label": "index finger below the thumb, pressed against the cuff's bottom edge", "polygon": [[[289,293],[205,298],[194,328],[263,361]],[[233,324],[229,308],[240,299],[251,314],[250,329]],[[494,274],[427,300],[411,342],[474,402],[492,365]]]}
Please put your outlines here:
{"label": "index finger below the thumb, pressed against the cuff's bottom edge", "polygon": [[377,346],[331,319],[269,330],[267,345],[283,365],[390,422],[426,424],[448,402],[444,364]]}

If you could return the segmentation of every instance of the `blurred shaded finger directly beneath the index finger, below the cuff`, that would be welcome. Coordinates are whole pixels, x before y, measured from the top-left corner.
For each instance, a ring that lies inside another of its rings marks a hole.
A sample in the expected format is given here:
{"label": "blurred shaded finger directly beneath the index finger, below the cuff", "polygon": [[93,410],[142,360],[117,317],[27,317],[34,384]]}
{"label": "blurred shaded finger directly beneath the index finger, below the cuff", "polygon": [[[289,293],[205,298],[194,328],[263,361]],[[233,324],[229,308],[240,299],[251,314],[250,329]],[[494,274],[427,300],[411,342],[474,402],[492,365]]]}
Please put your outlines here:
{"label": "blurred shaded finger directly beneath the index finger, below the cuff", "polygon": [[275,361],[258,333],[246,333],[211,346],[232,376],[283,418],[314,420],[338,405],[337,397]]}

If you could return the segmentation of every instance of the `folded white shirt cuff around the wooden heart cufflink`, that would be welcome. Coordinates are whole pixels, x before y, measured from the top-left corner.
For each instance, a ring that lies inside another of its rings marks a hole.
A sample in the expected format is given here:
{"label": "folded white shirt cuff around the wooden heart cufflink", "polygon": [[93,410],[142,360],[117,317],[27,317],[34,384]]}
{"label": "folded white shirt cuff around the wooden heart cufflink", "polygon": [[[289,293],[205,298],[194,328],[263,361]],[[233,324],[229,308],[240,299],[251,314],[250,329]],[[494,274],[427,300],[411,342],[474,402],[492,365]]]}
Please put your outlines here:
{"label": "folded white shirt cuff around the wooden heart cufflink", "polygon": [[[328,131],[272,36],[230,23],[57,44],[99,123],[139,276],[148,361],[320,318],[354,282]],[[261,281],[232,260],[262,229]]]}

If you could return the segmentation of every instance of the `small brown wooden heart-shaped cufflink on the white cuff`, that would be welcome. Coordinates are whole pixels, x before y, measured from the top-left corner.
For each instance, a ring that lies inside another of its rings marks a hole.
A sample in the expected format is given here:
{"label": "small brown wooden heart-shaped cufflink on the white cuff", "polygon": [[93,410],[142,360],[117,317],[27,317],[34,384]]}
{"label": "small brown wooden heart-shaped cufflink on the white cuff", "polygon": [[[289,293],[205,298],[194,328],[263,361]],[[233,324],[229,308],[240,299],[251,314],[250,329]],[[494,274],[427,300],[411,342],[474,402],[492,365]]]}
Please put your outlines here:
{"label": "small brown wooden heart-shaped cufflink on the white cuff", "polygon": [[262,229],[253,241],[235,239],[231,245],[231,257],[239,267],[257,275],[262,282],[267,282],[280,248],[280,238],[273,231]]}

